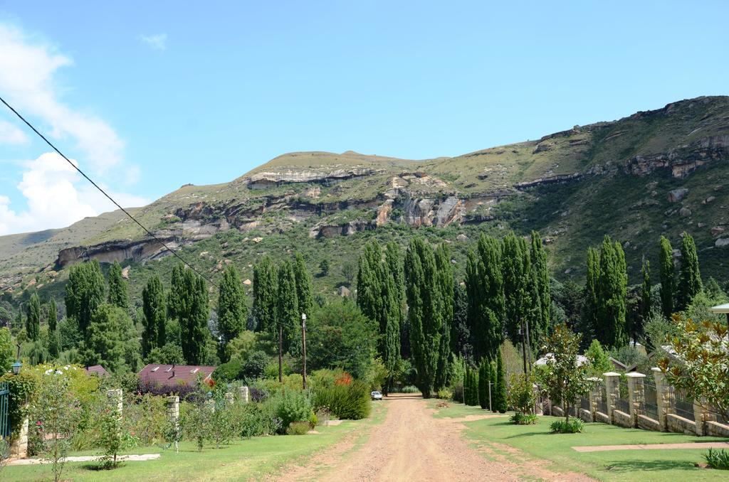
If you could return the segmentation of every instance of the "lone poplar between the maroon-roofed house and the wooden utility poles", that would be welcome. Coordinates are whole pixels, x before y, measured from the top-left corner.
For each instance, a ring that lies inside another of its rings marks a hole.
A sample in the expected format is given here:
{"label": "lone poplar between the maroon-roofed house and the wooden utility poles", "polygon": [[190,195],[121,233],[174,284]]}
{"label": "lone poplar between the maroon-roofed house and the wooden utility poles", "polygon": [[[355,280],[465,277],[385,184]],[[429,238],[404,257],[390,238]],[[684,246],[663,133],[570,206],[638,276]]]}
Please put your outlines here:
{"label": "lone poplar between the maroon-roofed house and the wooden utility poles", "polygon": [[221,353],[225,353],[225,347],[230,340],[246,328],[248,316],[241,276],[232,264],[225,268],[218,289],[218,331],[221,336]]}

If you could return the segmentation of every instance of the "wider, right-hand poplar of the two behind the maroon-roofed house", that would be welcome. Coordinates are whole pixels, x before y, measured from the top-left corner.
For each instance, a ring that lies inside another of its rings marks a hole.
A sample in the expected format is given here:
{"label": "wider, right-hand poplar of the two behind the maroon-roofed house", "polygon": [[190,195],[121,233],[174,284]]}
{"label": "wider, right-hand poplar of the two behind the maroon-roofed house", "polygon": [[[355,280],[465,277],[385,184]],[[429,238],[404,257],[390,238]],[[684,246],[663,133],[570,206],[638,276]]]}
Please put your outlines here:
{"label": "wider, right-hand poplar of the two behind the maroon-roofed house", "polygon": [[192,269],[177,264],[167,302],[168,315],[177,320],[185,362],[201,365],[205,359],[208,330],[208,291],[205,280]]}

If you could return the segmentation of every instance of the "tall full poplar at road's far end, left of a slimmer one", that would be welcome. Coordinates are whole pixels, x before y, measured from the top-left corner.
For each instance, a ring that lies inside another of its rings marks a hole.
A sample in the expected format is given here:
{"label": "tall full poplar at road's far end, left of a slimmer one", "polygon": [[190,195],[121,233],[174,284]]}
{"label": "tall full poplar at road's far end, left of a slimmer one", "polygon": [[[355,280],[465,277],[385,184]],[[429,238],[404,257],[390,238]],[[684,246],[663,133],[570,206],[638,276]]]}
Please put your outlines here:
{"label": "tall full poplar at road's far end, left of a slimmer one", "polygon": [[405,254],[405,292],[408,298],[410,346],[417,386],[424,398],[434,389],[443,331],[440,289],[433,249],[422,237],[410,241]]}

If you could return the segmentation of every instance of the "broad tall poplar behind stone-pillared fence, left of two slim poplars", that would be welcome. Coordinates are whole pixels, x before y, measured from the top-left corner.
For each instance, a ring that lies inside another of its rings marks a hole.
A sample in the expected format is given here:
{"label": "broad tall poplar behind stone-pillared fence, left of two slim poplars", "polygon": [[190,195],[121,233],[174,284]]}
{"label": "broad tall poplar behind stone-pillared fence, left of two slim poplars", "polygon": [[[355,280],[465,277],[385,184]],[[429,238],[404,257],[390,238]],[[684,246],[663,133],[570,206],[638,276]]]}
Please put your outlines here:
{"label": "broad tall poplar behind stone-pillared fence, left of two slim poplars", "polygon": [[625,325],[625,296],[628,272],[620,242],[605,236],[600,248],[595,335],[605,347],[622,347],[628,342]]}

